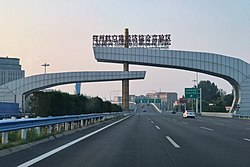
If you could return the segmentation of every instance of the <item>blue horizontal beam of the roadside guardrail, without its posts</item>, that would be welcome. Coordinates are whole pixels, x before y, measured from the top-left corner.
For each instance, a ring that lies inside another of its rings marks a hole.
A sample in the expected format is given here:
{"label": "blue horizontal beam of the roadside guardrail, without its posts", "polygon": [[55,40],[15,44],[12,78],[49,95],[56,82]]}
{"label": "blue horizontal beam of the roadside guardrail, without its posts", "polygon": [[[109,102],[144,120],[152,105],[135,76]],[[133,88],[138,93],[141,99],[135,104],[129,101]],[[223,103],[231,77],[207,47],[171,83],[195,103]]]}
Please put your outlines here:
{"label": "blue horizontal beam of the roadside guardrail, without its posts", "polygon": [[87,119],[97,119],[108,116],[119,116],[128,113],[101,113],[101,114],[86,114],[86,115],[69,115],[46,118],[26,118],[26,119],[7,119],[0,120],[0,132],[9,132],[20,129],[28,129],[33,127],[48,126],[66,122],[74,122]]}

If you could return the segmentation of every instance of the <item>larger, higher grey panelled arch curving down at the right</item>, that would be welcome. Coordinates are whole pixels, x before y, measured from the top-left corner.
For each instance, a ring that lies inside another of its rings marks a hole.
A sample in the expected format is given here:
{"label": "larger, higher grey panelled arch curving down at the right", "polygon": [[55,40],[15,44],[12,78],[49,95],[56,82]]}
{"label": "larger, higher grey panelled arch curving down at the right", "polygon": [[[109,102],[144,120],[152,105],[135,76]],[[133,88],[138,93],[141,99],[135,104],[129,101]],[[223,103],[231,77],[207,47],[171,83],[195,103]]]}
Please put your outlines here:
{"label": "larger, higher grey panelled arch curving down at the right", "polygon": [[[228,81],[234,90],[230,112],[250,115],[250,65],[229,56],[159,48],[123,48],[93,46],[99,62],[129,63],[195,71],[220,77]],[[237,110],[235,110],[237,106]]]}

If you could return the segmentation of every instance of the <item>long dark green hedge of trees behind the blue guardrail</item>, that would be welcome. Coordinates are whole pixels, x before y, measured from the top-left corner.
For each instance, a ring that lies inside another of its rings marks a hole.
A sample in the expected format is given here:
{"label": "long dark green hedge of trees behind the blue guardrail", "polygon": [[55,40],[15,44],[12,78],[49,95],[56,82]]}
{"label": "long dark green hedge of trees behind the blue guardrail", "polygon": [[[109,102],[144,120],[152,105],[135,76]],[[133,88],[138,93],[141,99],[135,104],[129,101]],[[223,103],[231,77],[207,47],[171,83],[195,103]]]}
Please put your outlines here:
{"label": "long dark green hedge of trees behind the blue guardrail", "polygon": [[60,91],[35,92],[30,96],[28,112],[36,116],[62,116],[119,112],[121,107],[99,97],[70,95]]}

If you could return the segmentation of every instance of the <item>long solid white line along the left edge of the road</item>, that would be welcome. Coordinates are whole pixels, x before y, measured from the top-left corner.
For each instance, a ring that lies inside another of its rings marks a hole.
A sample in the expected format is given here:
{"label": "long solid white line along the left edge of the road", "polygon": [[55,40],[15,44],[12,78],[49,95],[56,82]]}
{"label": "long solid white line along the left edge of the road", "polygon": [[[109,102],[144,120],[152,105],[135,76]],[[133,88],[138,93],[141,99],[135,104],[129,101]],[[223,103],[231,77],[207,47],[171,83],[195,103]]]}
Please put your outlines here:
{"label": "long solid white line along the left edge of the road", "polygon": [[67,144],[65,144],[65,145],[63,145],[63,146],[60,146],[60,147],[54,149],[54,150],[51,150],[51,151],[49,151],[49,152],[47,152],[47,153],[45,153],[45,154],[43,154],[43,155],[40,155],[39,157],[36,157],[36,158],[34,158],[34,159],[30,160],[30,161],[27,161],[27,162],[25,162],[25,163],[19,165],[18,167],[27,167],[27,166],[31,166],[31,165],[33,165],[33,164],[35,164],[35,163],[37,163],[37,162],[39,162],[39,161],[41,161],[41,160],[43,160],[43,159],[45,159],[45,158],[48,158],[49,156],[51,156],[51,155],[53,155],[53,154],[55,154],[55,153],[57,153],[57,152],[59,152],[59,151],[64,150],[64,149],[67,148],[67,147],[72,146],[73,144],[76,144],[76,143],[78,143],[78,142],[80,142],[80,141],[82,141],[82,140],[84,140],[84,139],[86,139],[86,138],[88,138],[88,137],[90,137],[90,136],[93,136],[94,134],[97,134],[97,133],[99,133],[99,132],[101,132],[101,131],[103,131],[103,130],[105,130],[105,129],[107,129],[107,128],[109,128],[109,127],[111,127],[111,126],[113,126],[113,125],[115,125],[115,124],[117,124],[117,123],[119,123],[119,122],[125,120],[125,119],[127,119],[127,118],[129,118],[130,116],[131,116],[131,115],[129,115],[129,116],[127,116],[127,117],[125,117],[125,118],[123,118],[123,119],[121,119],[121,120],[119,120],[119,121],[116,121],[116,122],[114,122],[114,123],[112,123],[112,124],[109,124],[109,125],[107,125],[107,126],[101,128],[101,129],[98,129],[98,130],[96,130],[96,131],[94,131],[94,132],[92,132],[92,133],[89,133],[89,134],[87,134],[87,135],[85,135],[85,136],[83,136],[83,137],[80,137],[80,138],[78,138],[78,139],[76,139],[76,140],[74,140],[74,141],[72,141],[72,142],[70,142],[70,143],[67,143]]}

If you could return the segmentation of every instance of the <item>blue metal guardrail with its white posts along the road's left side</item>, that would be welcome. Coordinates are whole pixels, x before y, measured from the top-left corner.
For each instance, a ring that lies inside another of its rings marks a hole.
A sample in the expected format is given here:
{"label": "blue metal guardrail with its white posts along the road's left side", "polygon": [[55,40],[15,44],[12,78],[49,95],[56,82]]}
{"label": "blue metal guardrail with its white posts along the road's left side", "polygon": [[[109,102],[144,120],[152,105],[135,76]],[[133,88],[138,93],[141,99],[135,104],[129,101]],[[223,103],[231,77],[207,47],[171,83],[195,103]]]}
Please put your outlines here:
{"label": "blue metal guardrail with its white posts along the road's left side", "polygon": [[9,132],[19,131],[20,138],[25,141],[27,138],[27,130],[35,128],[36,133],[40,135],[41,127],[46,127],[47,134],[51,134],[52,129],[60,132],[68,131],[69,129],[79,128],[100,122],[105,119],[111,119],[119,116],[126,116],[129,112],[115,112],[115,113],[98,113],[98,114],[84,114],[84,115],[66,115],[46,118],[22,118],[22,119],[7,119],[0,120],[0,133],[2,144],[7,144]]}

